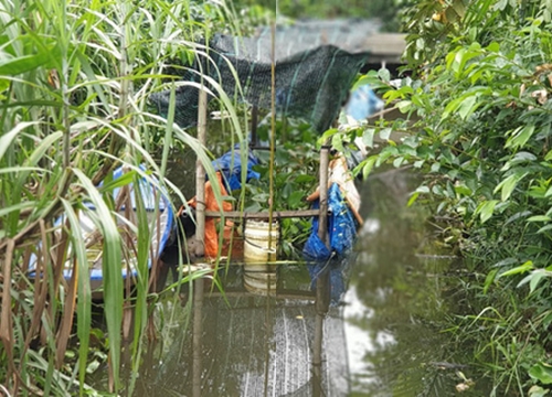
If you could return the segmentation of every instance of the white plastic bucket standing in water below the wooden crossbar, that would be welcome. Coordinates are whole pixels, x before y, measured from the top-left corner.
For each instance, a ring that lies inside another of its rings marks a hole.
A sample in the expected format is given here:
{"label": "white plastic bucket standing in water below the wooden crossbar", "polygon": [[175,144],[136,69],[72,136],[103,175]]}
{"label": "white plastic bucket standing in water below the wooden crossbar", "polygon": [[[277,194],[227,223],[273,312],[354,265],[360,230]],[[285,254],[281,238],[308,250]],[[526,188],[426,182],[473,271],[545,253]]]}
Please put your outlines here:
{"label": "white plastic bucket standing in water below the wooden crossbar", "polygon": [[[255,264],[275,261],[278,240],[278,222],[273,222],[270,225],[268,222],[246,219],[243,247],[244,261]],[[263,269],[266,271],[266,267],[263,266],[256,270],[262,271]]]}

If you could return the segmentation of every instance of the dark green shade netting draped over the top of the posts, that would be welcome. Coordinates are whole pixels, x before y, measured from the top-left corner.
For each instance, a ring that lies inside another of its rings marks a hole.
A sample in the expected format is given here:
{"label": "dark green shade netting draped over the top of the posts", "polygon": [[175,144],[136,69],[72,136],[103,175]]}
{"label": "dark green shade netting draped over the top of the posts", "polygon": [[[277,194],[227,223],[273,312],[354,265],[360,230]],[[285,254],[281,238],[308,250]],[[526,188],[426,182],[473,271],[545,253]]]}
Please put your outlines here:
{"label": "dark green shade netting draped over the top of the posts", "polygon": [[[367,21],[302,22],[278,28],[274,35],[277,114],[302,118],[319,132],[327,130],[367,62],[369,52],[363,44],[375,29]],[[268,28],[254,37],[215,35],[209,43],[209,58],[198,57],[182,74],[182,81],[199,83],[199,71],[203,71],[231,98],[270,109],[272,40]],[[177,88],[176,121],[183,128],[197,124],[198,93],[190,85]],[[170,90],[151,96],[161,115],[167,115],[169,98]]]}

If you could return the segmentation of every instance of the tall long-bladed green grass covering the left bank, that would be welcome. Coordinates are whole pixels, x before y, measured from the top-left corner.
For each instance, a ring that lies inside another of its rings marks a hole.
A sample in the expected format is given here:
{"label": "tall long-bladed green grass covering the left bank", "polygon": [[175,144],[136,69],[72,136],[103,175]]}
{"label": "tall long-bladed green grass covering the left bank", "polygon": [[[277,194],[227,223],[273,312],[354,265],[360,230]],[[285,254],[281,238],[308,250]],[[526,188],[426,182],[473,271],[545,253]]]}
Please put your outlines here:
{"label": "tall long-bladed green grass covering the left bank", "polygon": [[[120,389],[121,330],[130,308],[136,372],[158,261],[150,249],[152,225],[138,203],[137,293],[130,300],[120,267],[128,249],[113,190],[139,178],[174,190],[164,171],[176,140],[212,174],[209,152],[172,125],[173,109],[169,122],[151,114],[148,95],[174,85],[169,60],[185,65],[199,52],[193,42],[232,17],[231,8],[216,3],[0,0],[0,379],[11,395],[93,393],[86,386],[92,291],[78,233],[79,214],[89,212],[85,203],[96,208],[103,240],[110,391]],[[244,144],[233,101],[223,96],[221,104]],[[155,159],[160,146],[162,157]],[[112,181],[119,165],[130,172]],[[55,223],[62,213],[64,221]],[[70,279],[62,275],[67,266]],[[72,339],[78,345],[74,368],[65,360]]]}

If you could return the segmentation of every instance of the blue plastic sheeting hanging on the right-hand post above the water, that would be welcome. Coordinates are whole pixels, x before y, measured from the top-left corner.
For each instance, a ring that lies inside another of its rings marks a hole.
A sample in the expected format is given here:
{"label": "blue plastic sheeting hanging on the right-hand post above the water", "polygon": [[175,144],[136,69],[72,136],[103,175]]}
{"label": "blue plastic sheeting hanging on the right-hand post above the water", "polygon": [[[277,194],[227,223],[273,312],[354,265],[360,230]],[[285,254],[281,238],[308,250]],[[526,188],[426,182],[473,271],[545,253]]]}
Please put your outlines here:
{"label": "blue plastic sheeting hanging on the right-hand post above the water", "polygon": [[[319,207],[316,201],[314,208]],[[316,286],[318,276],[329,267],[330,271],[330,300],[332,304],[339,303],[346,291],[346,256],[352,250],[357,237],[357,221],[347,205],[339,185],[333,183],[328,190],[328,237],[330,248],[318,237],[318,218],[312,219],[312,229],[302,249],[307,260],[311,288]]]}

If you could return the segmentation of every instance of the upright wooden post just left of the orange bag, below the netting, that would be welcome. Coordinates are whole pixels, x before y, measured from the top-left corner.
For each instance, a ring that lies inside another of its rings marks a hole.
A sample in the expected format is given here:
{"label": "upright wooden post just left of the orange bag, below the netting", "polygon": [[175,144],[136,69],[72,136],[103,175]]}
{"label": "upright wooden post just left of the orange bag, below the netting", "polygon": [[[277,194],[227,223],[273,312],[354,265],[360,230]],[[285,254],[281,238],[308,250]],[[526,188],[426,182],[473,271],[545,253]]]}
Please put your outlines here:
{"label": "upright wooden post just left of the orange bag, below the netting", "polygon": [[[198,140],[202,147],[206,143],[206,110],[208,96],[204,89],[200,89],[198,101]],[[205,253],[205,169],[200,159],[195,161],[195,238],[200,244],[198,256]]]}

